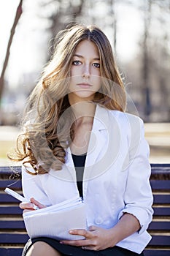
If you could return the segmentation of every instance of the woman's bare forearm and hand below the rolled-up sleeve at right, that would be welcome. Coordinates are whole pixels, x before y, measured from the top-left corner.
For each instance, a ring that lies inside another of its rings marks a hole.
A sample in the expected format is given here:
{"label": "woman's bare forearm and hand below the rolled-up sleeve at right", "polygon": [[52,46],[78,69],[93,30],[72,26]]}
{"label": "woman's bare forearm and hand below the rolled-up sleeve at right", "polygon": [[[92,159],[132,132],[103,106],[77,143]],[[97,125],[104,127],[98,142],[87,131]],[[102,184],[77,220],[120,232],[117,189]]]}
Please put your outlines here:
{"label": "woman's bare forearm and hand below the rolled-up sleeve at right", "polygon": [[70,230],[72,235],[84,236],[83,240],[61,241],[61,244],[82,246],[83,249],[101,250],[115,246],[119,241],[131,236],[140,229],[139,220],[132,214],[125,213],[117,224],[110,228],[91,226],[89,230]]}

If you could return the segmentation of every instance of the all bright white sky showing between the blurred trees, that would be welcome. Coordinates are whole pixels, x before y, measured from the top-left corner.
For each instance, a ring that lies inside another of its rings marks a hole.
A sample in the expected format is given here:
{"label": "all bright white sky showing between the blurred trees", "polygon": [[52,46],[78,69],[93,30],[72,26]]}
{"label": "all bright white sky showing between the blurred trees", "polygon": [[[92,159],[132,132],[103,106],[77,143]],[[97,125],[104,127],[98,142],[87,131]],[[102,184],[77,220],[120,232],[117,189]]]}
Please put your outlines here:
{"label": "all bright white sky showing between the blurred trees", "polygon": [[[42,65],[45,64],[45,54],[42,54],[42,51],[48,50],[45,34],[47,20],[39,18],[37,3],[40,1],[42,0],[23,1],[26,9],[23,8],[23,15],[15,31],[6,73],[9,84],[14,87],[18,85],[23,74],[40,72]],[[19,0],[0,0],[0,72],[18,3]],[[123,61],[131,61],[137,54],[142,19],[135,8],[119,6],[117,20],[117,56]],[[109,31],[105,33],[110,37]]]}

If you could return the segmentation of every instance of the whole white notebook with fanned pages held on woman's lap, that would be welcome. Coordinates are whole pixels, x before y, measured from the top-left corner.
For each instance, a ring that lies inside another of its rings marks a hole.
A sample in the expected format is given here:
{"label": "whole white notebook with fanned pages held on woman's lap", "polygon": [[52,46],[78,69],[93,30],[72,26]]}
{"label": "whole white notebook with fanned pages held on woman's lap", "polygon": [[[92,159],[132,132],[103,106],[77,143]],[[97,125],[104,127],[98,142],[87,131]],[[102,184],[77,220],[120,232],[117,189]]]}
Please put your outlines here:
{"label": "whole white notebook with fanned pages held on woman's lap", "polygon": [[54,206],[23,213],[30,238],[50,237],[58,240],[84,239],[84,236],[69,234],[72,229],[87,229],[85,203],[74,197]]}

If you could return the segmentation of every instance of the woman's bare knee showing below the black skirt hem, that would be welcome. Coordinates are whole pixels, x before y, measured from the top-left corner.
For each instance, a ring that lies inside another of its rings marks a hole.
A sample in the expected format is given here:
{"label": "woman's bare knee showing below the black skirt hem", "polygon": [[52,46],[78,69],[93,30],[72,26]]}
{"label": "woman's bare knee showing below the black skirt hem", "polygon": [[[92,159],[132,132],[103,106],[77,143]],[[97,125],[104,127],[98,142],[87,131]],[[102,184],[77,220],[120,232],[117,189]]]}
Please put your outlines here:
{"label": "woman's bare knee showing below the black skirt hem", "polygon": [[35,242],[30,249],[28,249],[28,252],[26,253],[26,256],[61,256],[60,252],[57,252],[55,249],[53,249],[52,246],[49,244],[43,242],[43,241],[37,241]]}

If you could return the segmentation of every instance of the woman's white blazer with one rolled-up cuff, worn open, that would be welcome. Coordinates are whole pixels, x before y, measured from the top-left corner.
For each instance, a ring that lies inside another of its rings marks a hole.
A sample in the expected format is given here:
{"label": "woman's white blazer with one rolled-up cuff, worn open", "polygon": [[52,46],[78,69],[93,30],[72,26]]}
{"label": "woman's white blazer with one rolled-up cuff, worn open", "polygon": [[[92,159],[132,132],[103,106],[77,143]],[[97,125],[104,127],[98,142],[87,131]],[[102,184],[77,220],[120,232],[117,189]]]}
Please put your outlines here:
{"label": "woman's white blazer with one rolled-up cuff, worn open", "polygon": [[[144,139],[143,121],[134,115],[96,106],[93,129],[83,176],[83,199],[87,223],[113,227],[123,213],[139,219],[141,229],[117,243],[140,253],[151,236],[152,220],[149,147]],[[79,196],[70,149],[62,170],[32,176],[22,171],[23,194],[47,206]]]}

